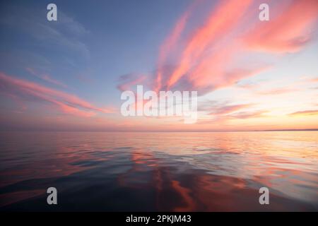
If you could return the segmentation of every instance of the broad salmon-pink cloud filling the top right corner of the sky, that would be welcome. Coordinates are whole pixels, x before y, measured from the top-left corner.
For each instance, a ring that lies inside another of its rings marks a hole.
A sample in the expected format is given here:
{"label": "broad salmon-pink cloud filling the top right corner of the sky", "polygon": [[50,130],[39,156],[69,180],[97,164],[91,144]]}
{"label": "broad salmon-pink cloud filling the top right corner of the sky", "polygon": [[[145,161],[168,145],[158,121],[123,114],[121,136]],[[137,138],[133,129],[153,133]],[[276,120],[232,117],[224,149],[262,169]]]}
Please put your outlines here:
{"label": "broad salmon-pink cloud filling the top right corner of the sky", "polygon": [[245,36],[249,49],[264,52],[298,52],[312,39],[312,29],[318,18],[318,1],[291,1],[276,10],[278,15],[261,22]]}

